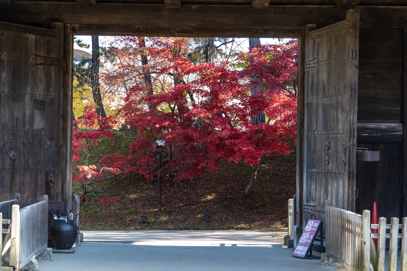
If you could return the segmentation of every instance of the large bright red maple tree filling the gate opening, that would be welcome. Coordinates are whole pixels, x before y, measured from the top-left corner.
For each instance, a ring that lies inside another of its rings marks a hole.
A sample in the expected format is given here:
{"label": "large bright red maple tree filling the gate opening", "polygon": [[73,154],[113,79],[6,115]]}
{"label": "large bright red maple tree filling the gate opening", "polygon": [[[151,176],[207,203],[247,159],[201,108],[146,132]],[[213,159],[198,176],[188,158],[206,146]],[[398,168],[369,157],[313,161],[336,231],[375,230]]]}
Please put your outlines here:
{"label": "large bright red maple tree filling the gate opening", "polygon": [[[174,150],[162,169],[178,169],[174,180],[216,170],[222,160],[256,169],[261,157],[293,150],[288,141],[296,134],[296,40],[259,45],[220,64],[193,64],[187,38],[150,38],[147,46],[141,38],[126,41],[134,46],[118,49],[118,73],[105,78],[132,82],[120,114],[138,135],[130,157],[105,156],[106,166],[152,177],[157,139]],[[259,85],[261,91],[250,96],[250,87]],[[252,125],[259,112],[267,123]]]}

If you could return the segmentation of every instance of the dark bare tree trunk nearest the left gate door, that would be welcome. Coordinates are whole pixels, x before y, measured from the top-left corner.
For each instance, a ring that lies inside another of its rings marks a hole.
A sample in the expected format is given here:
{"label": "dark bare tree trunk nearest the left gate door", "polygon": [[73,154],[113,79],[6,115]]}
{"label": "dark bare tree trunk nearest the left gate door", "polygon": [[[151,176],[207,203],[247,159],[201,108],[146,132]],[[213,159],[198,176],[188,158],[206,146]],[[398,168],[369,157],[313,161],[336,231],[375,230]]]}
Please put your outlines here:
{"label": "dark bare tree trunk nearest the left gate door", "polygon": [[92,96],[95,103],[95,109],[98,116],[106,117],[106,112],[103,107],[102,95],[100,94],[99,84],[99,66],[100,66],[100,49],[99,49],[99,36],[92,36]]}

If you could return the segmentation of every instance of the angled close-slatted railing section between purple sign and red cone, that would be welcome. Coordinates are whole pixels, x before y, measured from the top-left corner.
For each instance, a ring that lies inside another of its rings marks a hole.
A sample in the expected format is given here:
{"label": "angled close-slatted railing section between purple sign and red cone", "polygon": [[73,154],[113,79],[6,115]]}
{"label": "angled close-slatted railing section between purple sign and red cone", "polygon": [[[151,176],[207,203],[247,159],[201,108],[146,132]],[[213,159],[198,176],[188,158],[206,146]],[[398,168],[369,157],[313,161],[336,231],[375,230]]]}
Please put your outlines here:
{"label": "angled close-slatted railing section between purple sign and red cone", "polygon": [[325,221],[326,254],[348,269],[363,269],[363,217],[327,206]]}

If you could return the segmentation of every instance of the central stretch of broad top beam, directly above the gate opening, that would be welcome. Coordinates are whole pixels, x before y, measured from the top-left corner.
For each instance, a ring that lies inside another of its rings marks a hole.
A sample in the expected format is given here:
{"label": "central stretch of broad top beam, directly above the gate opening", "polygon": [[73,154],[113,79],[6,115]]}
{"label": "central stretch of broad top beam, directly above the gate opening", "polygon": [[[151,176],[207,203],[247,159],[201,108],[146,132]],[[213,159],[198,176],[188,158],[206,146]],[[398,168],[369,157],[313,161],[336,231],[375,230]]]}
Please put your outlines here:
{"label": "central stretch of broad top beam, directly above the gate opening", "polygon": [[335,6],[251,9],[246,5],[182,5],[182,9],[167,9],[164,5],[98,3],[92,9],[78,9],[75,3],[64,2],[59,11],[61,22],[100,25],[301,27],[308,23],[329,25],[346,17],[346,12]]}

